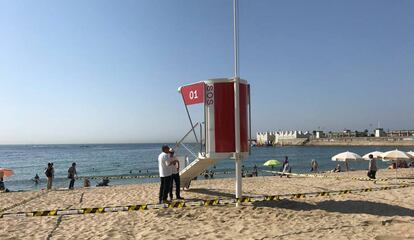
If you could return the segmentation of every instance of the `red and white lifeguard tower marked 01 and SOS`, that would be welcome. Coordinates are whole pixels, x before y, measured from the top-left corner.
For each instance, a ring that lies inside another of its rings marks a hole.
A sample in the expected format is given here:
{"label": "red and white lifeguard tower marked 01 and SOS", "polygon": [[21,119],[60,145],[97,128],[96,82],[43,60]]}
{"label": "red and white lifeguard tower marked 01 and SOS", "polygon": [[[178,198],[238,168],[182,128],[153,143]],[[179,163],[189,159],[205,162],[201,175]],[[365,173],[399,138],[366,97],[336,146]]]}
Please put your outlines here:
{"label": "red and white lifeguard tower marked 01 and SOS", "polygon": [[[193,153],[195,159],[187,166],[182,165],[185,166],[180,171],[182,187],[188,188],[192,179],[217,161],[235,159],[237,145],[240,148],[240,159],[248,155],[250,149],[250,86],[246,80],[237,80],[236,85],[235,78],[210,79],[181,86],[178,89],[192,126],[185,137],[194,132],[196,141],[200,143],[199,152]],[[237,90],[239,94],[236,93]],[[237,95],[238,99],[236,99]],[[238,107],[235,104],[237,100]],[[187,107],[192,104],[202,105],[204,122],[193,124]],[[238,121],[236,116],[238,116]],[[199,137],[195,130],[197,127],[200,128]],[[239,136],[236,137],[238,134]],[[177,142],[177,146],[181,145],[182,140]]]}

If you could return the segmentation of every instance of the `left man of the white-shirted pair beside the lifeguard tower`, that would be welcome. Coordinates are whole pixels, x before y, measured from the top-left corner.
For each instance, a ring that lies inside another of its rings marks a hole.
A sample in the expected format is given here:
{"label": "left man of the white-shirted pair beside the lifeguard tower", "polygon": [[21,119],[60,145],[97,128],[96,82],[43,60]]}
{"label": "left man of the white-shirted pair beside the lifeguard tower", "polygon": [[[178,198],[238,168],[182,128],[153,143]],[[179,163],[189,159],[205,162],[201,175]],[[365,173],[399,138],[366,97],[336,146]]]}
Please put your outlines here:
{"label": "left man of the white-shirted pair beside the lifeguard tower", "polygon": [[170,191],[171,184],[172,184],[172,171],[171,165],[174,165],[177,160],[173,160],[170,158],[170,147],[167,145],[162,146],[162,153],[158,156],[158,169],[160,172],[160,194],[159,194],[159,202],[166,203],[168,198],[168,192]]}

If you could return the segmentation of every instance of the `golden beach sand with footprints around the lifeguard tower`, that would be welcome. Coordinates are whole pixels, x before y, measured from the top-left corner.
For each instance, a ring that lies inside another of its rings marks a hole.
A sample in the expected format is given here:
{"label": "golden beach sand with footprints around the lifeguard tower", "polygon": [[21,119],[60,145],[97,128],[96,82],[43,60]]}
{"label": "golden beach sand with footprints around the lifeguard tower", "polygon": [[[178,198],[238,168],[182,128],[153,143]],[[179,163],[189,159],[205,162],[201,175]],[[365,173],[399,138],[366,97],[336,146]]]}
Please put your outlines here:
{"label": "golden beach sand with footprints around the lifeguard tower", "polygon": [[[414,239],[414,179],[402,169],[407,188],[343,196],[53,217],[0,219],[0,239]],[[358,181],[365,171],[330,178],[255,177],[243,179],[249,196],[395,186]],[[380,170],[378,178],[395,172]],[[187,200],[234,198],[234,179],[193,181]],[[136,184],[73,191],[1,193],[6,212],[156,203],[159,184]]]}

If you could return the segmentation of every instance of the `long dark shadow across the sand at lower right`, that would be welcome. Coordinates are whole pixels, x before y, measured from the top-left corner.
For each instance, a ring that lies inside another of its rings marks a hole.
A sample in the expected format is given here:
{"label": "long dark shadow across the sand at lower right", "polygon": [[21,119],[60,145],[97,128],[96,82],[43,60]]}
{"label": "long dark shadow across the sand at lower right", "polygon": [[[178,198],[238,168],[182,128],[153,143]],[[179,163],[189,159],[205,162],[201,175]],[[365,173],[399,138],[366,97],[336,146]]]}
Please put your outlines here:
{"label": "long dark shadow across the sand at lower right", "polygon": [[292,200],[281,200],[277,202],[255,202],[255,207],[284,208],[296,211],[324,210],[327,212],[349,213],[349,214],[371,214],[377,216],[409,216],[414,217],[414,210],[386,203],[369,201],[346,200],[346,201],[323,201],[316,204],[297,202]]}

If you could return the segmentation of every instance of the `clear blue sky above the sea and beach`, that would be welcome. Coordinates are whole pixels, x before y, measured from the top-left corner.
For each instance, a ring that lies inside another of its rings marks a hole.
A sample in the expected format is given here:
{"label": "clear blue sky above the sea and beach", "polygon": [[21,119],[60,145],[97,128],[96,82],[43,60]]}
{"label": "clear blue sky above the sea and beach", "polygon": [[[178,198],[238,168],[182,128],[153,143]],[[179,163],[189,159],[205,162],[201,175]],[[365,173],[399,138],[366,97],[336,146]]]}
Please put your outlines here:
{"label": "clear blue sky above the sea and beach", "polygon": [[[253,132],[414,128],[414,1],[239,6]],[[232,54],[231,0],[0,0],[0,144],[176,141]]]}

